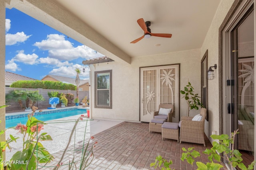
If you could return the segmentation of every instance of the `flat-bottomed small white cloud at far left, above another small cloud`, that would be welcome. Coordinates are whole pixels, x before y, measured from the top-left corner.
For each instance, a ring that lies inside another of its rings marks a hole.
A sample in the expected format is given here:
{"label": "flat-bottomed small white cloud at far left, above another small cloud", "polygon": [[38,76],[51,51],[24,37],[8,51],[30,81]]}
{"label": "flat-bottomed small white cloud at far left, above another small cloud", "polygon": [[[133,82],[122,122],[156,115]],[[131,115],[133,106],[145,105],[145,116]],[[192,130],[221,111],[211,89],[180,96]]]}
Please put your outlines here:
{"label": "flat-bottomed small white cloud at far left, above another small cloud", "polygon": [[26,35],[23,31],[16,34],[6,34],[5,45],[14,45],[26,41],[31,35]]}

